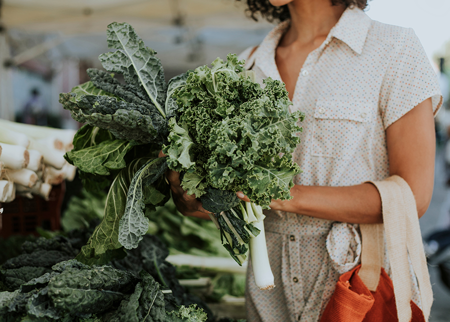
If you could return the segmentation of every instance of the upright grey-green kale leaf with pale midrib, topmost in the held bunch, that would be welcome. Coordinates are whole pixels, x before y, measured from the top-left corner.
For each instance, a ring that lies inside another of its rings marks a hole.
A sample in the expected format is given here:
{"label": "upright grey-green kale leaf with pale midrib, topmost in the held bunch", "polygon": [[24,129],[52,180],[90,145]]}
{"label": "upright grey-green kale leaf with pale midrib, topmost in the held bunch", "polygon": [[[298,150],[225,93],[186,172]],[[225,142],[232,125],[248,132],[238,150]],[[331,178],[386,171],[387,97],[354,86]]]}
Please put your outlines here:
{"label": "upright grey-green kale leaf with pale midrib, topmost in the held bunch", "polygon": [[99,59],[106,70],[123,74],[129,88],[140,98],[149,100],[159,113],[163,110],[167,84],[155,51],[145,47],[142,39],[128,23],[112,22],[106,31],[108,47],[118,49],[106,52]]}

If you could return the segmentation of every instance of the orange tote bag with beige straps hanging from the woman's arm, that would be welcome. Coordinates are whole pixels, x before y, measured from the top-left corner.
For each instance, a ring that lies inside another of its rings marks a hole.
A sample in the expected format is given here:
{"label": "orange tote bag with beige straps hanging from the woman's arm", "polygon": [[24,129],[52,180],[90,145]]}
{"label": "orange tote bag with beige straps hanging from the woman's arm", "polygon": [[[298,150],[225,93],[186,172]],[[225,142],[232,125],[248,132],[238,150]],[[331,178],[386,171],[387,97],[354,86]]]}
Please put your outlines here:
{"label": "orange tote bag with beige straps hanging from the woman's arm", "polygon": [[[370,182],[381,196],[383,223],[359,225],[361,264],[339,277],[320,322],[427,322],[433,294],[414,195],[397,175]],[[392,280],[381,267],[384,238]],[[408,257],[422,310],[411,300]]]}

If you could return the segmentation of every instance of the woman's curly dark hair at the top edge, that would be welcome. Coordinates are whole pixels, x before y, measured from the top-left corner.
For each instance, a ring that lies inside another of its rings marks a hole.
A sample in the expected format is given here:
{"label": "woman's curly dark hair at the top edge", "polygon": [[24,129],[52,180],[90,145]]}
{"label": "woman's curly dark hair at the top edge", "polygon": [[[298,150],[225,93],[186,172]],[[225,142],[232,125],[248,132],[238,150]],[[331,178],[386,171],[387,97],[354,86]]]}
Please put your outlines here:
{"label": "woman's curly dark hair at the top edge", "polygon": [[[345,7],[356,6],[360,9],[364,9],[367,6],[367,1],[368,0],[331,0],[331,3],[333,5],[344,4]],[[258,13],[269,22],[284,21],[290,18],[287,4],[273,6],[270,4],[269,0],[247,0],[247,5],[248,8],[246,11],[249,13],[249,16],[256,21],[258,20]]]}

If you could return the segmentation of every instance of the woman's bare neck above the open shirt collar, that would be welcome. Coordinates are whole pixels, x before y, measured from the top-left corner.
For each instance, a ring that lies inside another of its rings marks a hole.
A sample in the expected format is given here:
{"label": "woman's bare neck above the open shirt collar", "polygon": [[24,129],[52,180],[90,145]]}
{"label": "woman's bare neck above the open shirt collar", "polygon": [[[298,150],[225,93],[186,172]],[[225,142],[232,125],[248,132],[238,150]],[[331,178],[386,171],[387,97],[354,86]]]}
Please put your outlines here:
{"label": "woman's bare neck above the open shirt collar", "polygon": [[279,43],[281,46],[312,43],[326,37],[345,10],[345,6],[332,5],[330,0],[293,0],[287,5],[291,24]]}

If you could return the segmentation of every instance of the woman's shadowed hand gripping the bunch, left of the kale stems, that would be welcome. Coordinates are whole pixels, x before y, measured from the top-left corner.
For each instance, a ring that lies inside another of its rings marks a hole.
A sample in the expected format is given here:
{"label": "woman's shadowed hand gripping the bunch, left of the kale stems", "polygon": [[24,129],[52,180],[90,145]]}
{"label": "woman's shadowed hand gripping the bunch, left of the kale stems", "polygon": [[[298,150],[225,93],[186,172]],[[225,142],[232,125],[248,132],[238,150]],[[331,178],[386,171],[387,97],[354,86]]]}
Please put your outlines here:
{"label": "woman's shadowed hand gripping the bunch, left of the kale stems", "polygon": [[[162,153],[162,151],[159,151],[158,156],[162,157],[166,155]],[[208,215],[210,212],[203,208],[201,202],[195,198],[195,194],[187,194],[187,192],[181,187],[179,172],[168,169],[165,172],[165,177],[170,184],[173,202],[179,212],[185,216],[210,219]]]}

